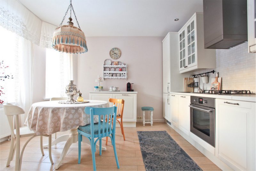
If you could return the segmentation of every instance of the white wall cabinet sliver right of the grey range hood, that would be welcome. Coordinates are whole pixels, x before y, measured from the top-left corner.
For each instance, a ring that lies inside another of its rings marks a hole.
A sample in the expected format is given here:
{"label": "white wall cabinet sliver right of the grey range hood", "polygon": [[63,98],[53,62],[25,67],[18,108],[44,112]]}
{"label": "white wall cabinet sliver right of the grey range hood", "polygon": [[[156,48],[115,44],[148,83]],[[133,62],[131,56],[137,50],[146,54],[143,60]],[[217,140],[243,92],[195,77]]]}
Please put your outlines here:
{"label": "white wall cabinet sliver right of the grey range hood", "polygon": [[255,25],[256,25],[256,14],[255,14],[255,0],[247,0],[247,24],[248,24],[248,52],[255,52]]}

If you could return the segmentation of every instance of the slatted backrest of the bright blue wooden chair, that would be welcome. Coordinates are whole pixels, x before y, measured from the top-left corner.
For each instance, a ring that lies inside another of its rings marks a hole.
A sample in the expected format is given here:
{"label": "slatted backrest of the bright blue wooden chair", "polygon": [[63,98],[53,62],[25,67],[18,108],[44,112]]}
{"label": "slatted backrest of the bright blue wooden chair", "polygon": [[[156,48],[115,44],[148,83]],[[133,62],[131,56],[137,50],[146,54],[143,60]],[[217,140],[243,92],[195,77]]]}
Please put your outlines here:
{"label": "slatted backrest of the bright blue wooden chair", "polygon": [[[93,125],[94,115],[98,115],[98,120],[99,120],[98,135],[97,135],[98,138],[105,137],[105,136],[108,136],[109,134],[112,134],[113,132],[114,133],[116,132],[116,111],[117,111],[116,106],[107,107],[107,108],[85,107],[84,112],[86,114],[90,114],[90,119],[91,119],[91,138],[94,138],[94,125]],[[101,116],[103,116],[102,128],[100,124]],[[113,123],[107,122],[107,120],[112,120],[112,119],[113,119]],[[111,130],[111,127],[113,127],[112,130]],[[100,130],[102,130],[102,132]]]}

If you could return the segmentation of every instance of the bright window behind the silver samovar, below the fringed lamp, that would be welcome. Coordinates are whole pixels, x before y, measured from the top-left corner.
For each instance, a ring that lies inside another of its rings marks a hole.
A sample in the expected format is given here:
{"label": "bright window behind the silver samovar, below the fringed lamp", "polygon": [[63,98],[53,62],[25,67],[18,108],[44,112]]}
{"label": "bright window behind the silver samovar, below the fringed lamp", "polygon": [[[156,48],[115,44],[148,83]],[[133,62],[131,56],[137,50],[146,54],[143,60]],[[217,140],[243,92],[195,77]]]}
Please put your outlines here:
{"label": "bright window behind the silver samovar, below the fringed lamp", "polygon": [[65,97],[70,80],[69,54],[46,48],[45,98]]}

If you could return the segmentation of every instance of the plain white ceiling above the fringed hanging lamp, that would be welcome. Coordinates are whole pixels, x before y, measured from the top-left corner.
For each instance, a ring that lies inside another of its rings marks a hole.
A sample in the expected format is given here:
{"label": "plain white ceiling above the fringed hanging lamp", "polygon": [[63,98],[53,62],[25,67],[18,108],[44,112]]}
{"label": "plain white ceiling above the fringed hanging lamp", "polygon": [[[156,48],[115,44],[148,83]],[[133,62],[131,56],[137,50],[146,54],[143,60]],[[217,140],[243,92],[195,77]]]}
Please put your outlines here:
{"label": "plain white ceiling above the fringed hanging lamp", "polygon": [[[56,26],[70,4],[69,0],[19,1]],[[85,36],[165,36],[179,31],[195,12],[203,12],[203,0],[73,0],[72,5]],[[77,27],[73,13],[72,18]]]}

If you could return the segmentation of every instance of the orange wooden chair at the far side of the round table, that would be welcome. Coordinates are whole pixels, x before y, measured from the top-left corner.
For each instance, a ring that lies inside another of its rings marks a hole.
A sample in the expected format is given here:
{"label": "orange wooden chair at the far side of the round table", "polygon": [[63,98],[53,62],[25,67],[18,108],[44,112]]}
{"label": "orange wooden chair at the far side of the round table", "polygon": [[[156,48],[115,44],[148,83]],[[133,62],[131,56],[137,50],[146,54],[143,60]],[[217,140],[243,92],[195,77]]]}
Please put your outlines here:
{"label": "orange wooden chair at the far side of the round table", "polygon": [[[122,135],[124,136],[124,127],[123,127],[123,112],[124,112],[124,99],[116,99],[116,98],[109,98],[109,102],[113,103],[117,107],[117,114],[116,120],[120,124]],[[118,120],[121,118],[121,122]],[[125,141],[125,136],[124,136]],[[108,137],[106,138],[106,145],[108,145]]]}

